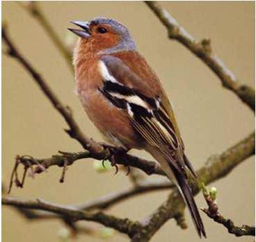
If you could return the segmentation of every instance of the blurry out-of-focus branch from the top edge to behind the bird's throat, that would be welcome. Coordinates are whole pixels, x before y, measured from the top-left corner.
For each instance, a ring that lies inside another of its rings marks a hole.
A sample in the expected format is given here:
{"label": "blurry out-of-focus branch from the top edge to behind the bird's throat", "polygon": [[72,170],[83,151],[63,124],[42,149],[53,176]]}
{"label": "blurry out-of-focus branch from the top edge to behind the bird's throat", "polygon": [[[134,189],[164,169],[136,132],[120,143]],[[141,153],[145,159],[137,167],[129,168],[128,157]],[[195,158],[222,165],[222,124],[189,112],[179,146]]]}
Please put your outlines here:
{"label": "blurry out-of-focus branch from the top edge to behind the bird's throat", "polygon": [[51,24],[45,17],[44,13],[42,13],[42,10],[38,5],[38,2],[29,1],[28,3],[22,3],[20,1],[17,1],[17,3],[19,4],[19,6],[22,6],[22,8],[24,8],[28,13],[30,13],[32,17],[38,20],[38,23],[45,30],[47,36],[49,36],[49,38],[54,43],[58,51],[60,51],[68,67],[70,67],[70,71],[73,73],[74,70],[72,66],[72,54],[67,49],[67,47],[65,47],[64,43],[61,41],[61,38],[58,37],[56,31],[54,31],[54,28],[51,26]]}

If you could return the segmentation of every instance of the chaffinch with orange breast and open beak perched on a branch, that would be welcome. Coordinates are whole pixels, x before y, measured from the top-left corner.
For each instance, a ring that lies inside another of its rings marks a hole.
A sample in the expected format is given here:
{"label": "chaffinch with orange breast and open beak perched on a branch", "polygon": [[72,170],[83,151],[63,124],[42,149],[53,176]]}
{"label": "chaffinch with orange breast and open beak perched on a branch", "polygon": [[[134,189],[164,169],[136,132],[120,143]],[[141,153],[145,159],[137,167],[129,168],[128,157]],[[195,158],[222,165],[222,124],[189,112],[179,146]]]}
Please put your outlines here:
{"label": "chaffinch with orange breast and open beak perched on a branch", "polygon": [[179,189],[198,235],[206,238],[187,170],[197,176],[184,152],[173,106],[129,29],[106,17],[71,23],[79,26],[68,29],[79,36],[74,79],[88,118],[112,145],[126,152],[145,150],[154,157]]}

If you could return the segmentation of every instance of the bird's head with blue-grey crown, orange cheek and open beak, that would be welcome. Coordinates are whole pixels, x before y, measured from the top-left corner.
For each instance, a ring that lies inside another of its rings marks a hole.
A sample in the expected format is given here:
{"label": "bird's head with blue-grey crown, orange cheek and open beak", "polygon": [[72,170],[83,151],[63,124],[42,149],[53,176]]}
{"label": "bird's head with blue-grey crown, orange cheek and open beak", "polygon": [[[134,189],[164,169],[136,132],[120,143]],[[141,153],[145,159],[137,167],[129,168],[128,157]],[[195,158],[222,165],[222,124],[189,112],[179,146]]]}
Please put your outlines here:
{"label": "bird's head with blue-grey crown, orange cheek and open beak", "polygon": [[97,54],[136,50],[135,42],[127,27],[113,19],[96,17],[89,22],[72,21],[72,24],[81,29],[69,30],[79,35],[81,42],[84,42],[85,46],[90,46],[91,51]]}

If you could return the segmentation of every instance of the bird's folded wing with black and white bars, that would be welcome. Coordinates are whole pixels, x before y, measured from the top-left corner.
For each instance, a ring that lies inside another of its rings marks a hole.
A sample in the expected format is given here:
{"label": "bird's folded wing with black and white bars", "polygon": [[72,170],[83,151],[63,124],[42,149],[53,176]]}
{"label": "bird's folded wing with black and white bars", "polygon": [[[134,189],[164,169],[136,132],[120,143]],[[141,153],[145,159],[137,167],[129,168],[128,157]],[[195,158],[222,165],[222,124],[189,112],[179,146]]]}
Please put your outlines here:
{"label": "bird's folded wing with black and white bars", "polygon": [[104,79],[99,88],[102,94],[113,105],[125,110],[138,134],[157,147],[173,167],[184,173],[186,161],[178,157],[181,153],[184,155],[184,146],[161,85],[152,88],[150,82],[144,80],[146,74],[142,79],[120,58],[113,56],[102,57],[99,69]]}

